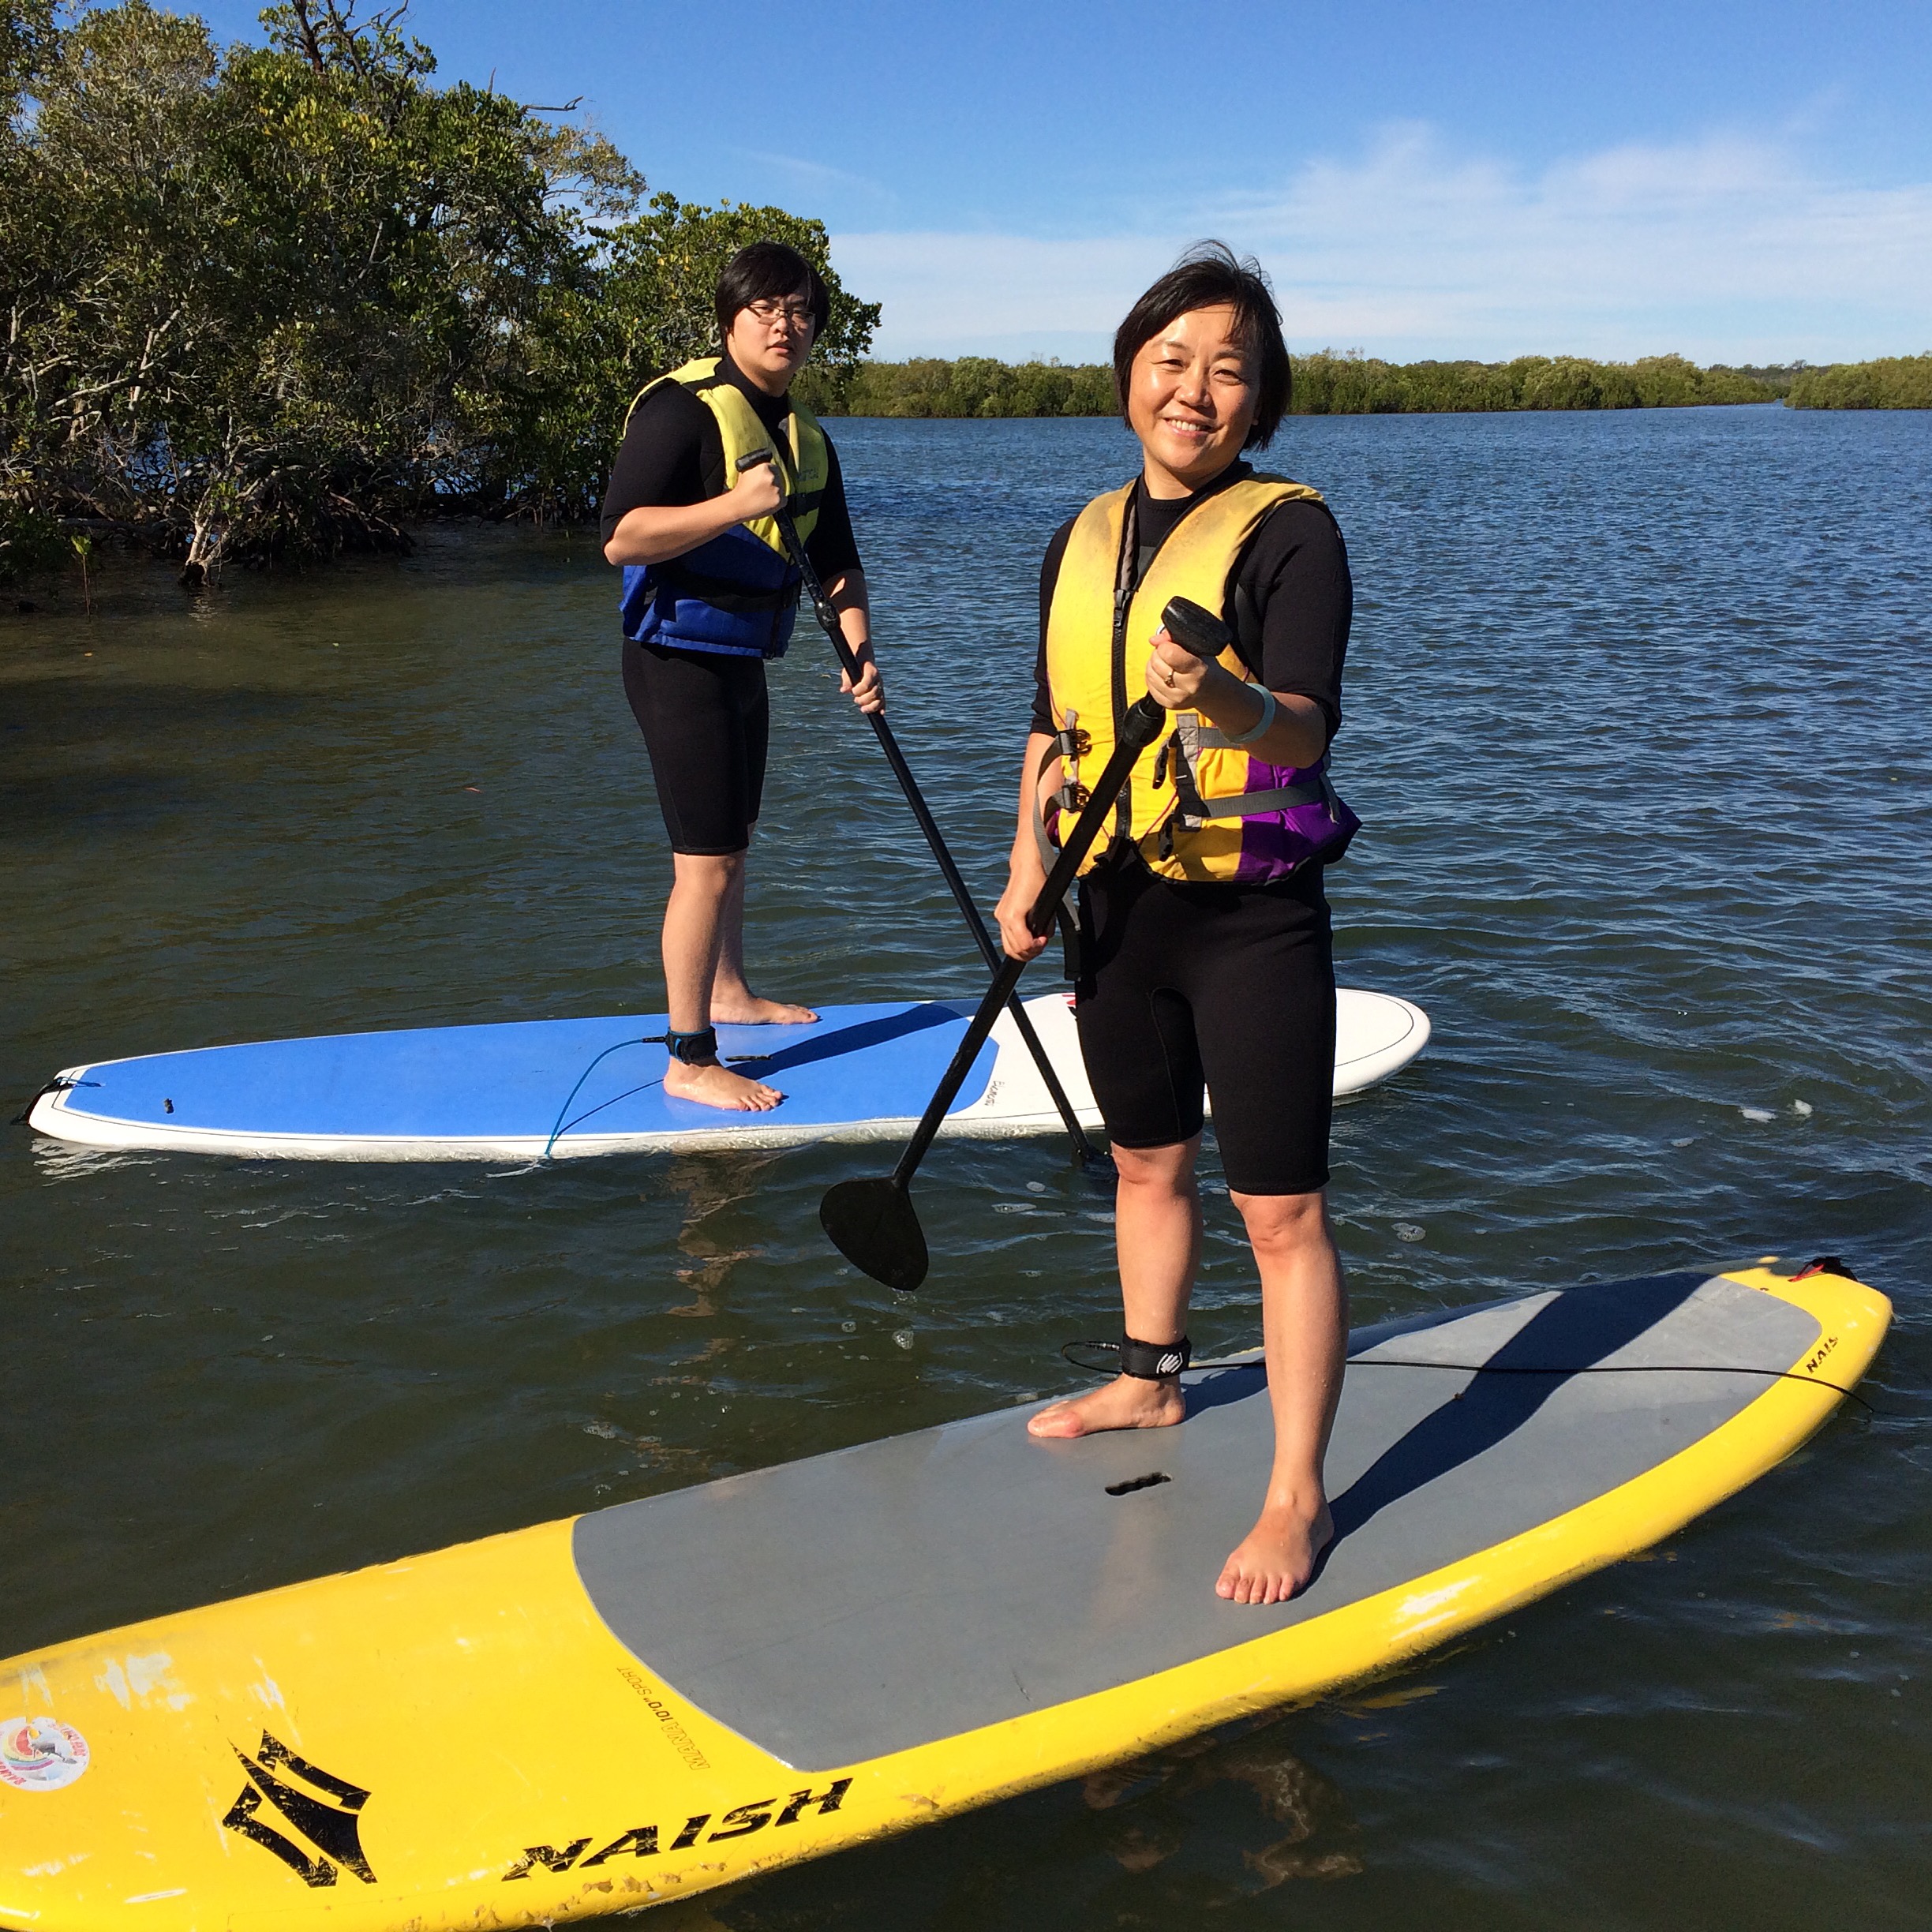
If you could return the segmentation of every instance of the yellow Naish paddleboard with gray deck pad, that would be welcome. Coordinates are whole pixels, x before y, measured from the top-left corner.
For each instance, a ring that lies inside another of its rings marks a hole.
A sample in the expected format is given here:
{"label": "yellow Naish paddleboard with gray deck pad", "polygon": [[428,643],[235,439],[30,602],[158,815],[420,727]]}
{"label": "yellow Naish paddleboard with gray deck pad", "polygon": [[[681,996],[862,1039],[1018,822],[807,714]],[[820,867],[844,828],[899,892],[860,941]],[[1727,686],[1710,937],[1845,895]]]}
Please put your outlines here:
{"label": "yellow Naish paddleboard with gray deck pad", "polygon": [[0,1665],[0,1926],[431,1932],[630,1911],[1387,1669],[1789,1455],[1889,1320],[1689,1271],[1360,1331],[1339,1536],[1213,1596],[1271,1441],[954,1422]]}

